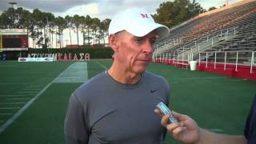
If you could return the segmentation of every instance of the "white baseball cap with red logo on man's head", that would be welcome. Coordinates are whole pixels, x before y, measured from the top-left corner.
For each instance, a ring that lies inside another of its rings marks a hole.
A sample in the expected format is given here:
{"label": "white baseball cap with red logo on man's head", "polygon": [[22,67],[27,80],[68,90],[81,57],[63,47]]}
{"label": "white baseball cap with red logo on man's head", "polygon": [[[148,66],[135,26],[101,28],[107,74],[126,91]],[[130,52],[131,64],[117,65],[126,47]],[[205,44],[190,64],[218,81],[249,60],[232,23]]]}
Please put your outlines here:
{"label": "white baseball cap with red logo on man's head", "polygon": [[109,26],[109,35],[126,30],[136,37],[143,37],[155,30],[160,38],[169,35],[169,28],[154,22],[151,15],[142,8],[133,8],[122,11],[112,18]]}

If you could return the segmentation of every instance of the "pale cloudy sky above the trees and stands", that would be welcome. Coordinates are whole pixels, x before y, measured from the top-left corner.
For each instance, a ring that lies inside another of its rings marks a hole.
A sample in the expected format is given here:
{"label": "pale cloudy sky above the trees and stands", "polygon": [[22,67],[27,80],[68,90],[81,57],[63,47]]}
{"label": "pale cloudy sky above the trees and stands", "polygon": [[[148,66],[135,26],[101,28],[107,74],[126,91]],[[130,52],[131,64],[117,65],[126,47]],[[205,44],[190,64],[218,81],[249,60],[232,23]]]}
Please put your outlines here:
{"label": "pale cloudy sky above the trees and stands", "polygon": [[[9,2],[17,2],[15,7],[23,7],[26,10],[38,8],[45,12],[51,12],[56,16],[65,17],[74,14],[91,18],[112,18],[115,13],[129,7],[143,7],[154,14],[158,6],[167,0],[0,0],[0,14],[10,7]],[[236,2],[238,0],[230,0]],[[196,0],[206,10],[211,6],[220,7],[226,0]]]}

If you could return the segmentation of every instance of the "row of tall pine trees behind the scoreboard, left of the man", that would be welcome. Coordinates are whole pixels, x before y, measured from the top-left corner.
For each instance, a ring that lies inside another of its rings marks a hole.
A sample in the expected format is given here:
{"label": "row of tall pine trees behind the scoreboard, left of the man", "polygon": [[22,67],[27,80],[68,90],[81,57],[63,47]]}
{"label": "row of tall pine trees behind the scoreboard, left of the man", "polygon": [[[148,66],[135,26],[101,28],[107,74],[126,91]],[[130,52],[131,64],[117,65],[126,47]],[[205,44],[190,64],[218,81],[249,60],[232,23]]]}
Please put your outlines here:
{"label": "row of tall pine trees behind the scoreboard, left of the man", "polygon": [[[22,7],[9,8],[0,15],[0,29],[17,28],[26,29],[32,38],[33,47],[53,47],[54,41],[59,48],[63,47],[63,31],[69,30],[70,44],[72,45],[73,30],[77,34],[82,33],[82,44],[105,44],[110,19],[100,20],[91,18],[89,15],[73,17],[66,15],[65,18],[55,17],[54,14],[34,9],[31,13]],[[55,36],[55,38],[54,38]]]}

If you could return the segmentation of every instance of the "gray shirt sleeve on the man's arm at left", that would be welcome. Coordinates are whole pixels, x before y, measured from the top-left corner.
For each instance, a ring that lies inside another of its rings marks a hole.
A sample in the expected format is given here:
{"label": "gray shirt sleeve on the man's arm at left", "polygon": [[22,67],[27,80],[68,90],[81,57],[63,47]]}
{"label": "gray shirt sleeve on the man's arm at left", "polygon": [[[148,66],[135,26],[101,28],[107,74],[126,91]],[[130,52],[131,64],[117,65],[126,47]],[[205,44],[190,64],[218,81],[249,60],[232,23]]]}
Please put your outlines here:
{"label": "gray shirt sleeve on the man's arm at left", "polygon": [[71,94],[64,122],[64,135],[67,144],[86,144],[89,129],[85,121],[85,112],[75,94]]}

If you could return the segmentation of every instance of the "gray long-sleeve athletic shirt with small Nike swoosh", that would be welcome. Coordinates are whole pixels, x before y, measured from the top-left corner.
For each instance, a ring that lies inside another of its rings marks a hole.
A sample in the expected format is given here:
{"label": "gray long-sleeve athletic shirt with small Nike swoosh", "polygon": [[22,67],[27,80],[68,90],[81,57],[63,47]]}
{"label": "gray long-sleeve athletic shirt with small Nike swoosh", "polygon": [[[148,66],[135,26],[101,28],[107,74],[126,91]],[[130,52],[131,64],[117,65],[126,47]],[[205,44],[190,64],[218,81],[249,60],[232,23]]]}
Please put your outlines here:
{"label": "gray long-sleeve athletic shirt with small Nike swoosh", "polygon": [[170,87],[145,72],[134,85],[124,85],[102,72],[70,97],[64,133],[68,144],[162,144],[166,129],[154,113],[168,105]]}

